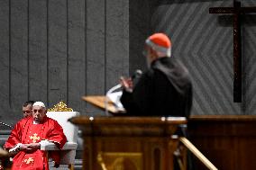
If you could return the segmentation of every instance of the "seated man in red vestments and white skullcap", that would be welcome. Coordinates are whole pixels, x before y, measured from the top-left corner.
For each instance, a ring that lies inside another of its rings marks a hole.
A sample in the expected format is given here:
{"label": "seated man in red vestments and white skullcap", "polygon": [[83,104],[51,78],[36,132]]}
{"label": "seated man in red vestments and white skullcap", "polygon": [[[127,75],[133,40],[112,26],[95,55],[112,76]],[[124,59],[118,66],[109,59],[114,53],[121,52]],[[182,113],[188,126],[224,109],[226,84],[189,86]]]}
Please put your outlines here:
{"label": "seated man in red vestments and white skullcap", "polygon": [[[67,142],[58,121],[48,118],[44,104],[36,102],[33,104],[32,117],[19,121],[5,142],[5,149],[13,149],[16,153],[12,170],[49,169],[47,151],[40,149],[41,140],[53,142],[59,149]],[[58,162],[58,153],[54,152],[52,158]]]}

